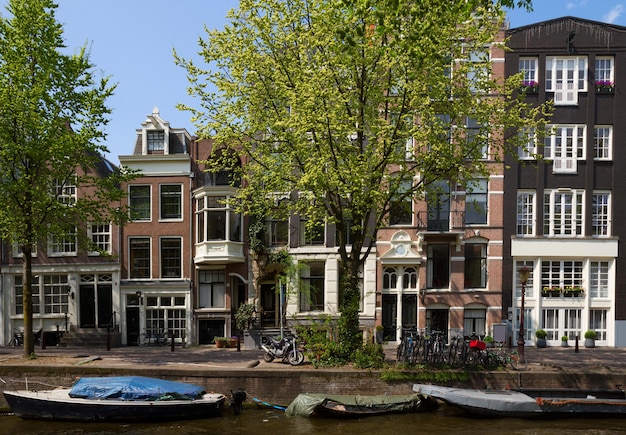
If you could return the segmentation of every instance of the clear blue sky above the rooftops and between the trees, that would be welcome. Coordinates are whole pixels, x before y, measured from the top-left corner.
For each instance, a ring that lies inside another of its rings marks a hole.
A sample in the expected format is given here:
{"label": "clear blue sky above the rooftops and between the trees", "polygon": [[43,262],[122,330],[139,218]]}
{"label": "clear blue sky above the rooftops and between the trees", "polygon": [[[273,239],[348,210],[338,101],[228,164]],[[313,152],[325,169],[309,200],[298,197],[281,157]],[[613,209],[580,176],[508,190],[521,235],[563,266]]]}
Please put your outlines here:
{"label": "clear blue sky above the rooftops and between the trees", "polygon": [[[0,0],[7,15],[8,0]],[[178,103],[199,107],[187,95],[186,71],[174,64],[175,48],[184,58],[199,60],[198,38],[204,27],[222,28],[226,12],[238,0],[56,0],[56,18],[63,25],[68,53],[87,46],[92,63],[117,83],[108,100],[113,110],[105,126],[107,157],[119,164],[119,155],[132,154],[136,130],[156,106],[173,128],[195,127],[191,114]],[[575,16],[626,26],[626,0],[534,0],[534,11],[509,12],[511,27],[563,16]]]}

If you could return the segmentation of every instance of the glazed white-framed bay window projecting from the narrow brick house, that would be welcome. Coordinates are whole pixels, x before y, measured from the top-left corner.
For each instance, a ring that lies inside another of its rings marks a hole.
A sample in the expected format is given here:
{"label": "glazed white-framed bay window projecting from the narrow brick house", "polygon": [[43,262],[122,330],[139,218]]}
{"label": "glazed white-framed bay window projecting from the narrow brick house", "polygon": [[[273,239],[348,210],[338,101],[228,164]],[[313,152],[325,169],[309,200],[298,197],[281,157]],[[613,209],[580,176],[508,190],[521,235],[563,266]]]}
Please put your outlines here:
{"label": "glazed white-framed bay window projecting from the narrow brick house", "polygon": [[196,201],[198,242],[241,242],[241,214],[230,208],[226,196],[205,196]]}

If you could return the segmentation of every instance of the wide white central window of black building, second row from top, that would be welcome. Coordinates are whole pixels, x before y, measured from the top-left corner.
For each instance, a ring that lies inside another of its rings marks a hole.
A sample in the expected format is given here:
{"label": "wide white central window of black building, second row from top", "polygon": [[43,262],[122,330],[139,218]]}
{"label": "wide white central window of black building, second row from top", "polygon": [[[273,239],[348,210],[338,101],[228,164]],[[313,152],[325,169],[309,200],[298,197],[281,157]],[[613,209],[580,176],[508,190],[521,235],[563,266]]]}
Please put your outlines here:
{"label": "wide white central window of black building, second row from top", "polygon": [[584,125],[549,127],[545,137],[544,157],[553,161],[552,170],[555,173],[576,173],[577,160],[585,159],[585,131]]}

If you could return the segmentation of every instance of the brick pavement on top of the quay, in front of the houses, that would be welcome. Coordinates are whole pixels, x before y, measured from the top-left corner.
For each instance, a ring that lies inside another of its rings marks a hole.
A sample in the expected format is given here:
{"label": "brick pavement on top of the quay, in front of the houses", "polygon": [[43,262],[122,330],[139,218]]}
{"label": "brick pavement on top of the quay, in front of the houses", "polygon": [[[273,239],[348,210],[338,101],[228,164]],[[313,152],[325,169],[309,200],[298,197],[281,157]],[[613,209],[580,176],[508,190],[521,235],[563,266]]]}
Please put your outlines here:
{"label": "brick pavement on top of the quay, in front of the houses", "polygon": [[[0,366],[2,365],[89,365],[95,367],[162,367],[179,369],[304,369],[311,368],[305,362],[298,367],[287,363],[263,361],[263,350],[242,347],[237,349],[218,349],[213,345],[137,347],[124,346],[106,348],[87,347],[47,347],[36,348],[36,358],[22,358],[21,347],[0,347]],[[395,362],[395,345],[385,346],[388,362]],[[524,348],[525,358],[530,370],[580,369],[584,371],[626,371],[626,348],[596,347],[592,349],[580,346],[547,347],[538,349]]]}

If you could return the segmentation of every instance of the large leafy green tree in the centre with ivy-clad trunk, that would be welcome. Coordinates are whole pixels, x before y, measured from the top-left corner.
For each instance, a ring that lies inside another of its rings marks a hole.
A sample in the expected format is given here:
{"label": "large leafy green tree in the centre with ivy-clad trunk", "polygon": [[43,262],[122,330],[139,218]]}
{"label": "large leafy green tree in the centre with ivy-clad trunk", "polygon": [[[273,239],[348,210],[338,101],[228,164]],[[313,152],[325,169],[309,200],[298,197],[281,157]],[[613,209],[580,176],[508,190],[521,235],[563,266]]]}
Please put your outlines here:
{"label": "large leafy green tree in the centre with ivy-clad trunk", "polygon": [[359,270],[390,212],[437,181],[487,174],[522,144],[517,128],[543,131],[545,108],[514,97],[520,77],[491,74],[485,47],[514,6],[530,1],[241,0],[200,39],[204,64],[174,53],[200,100],[181,108],[247,162],[240,208],[263,217],[275,193],[297,193],[286,215],[336,225],[346,358],[359,347]]}

